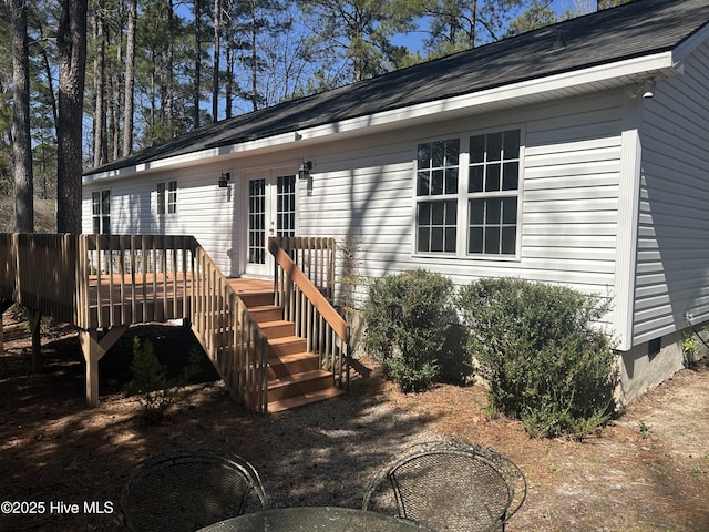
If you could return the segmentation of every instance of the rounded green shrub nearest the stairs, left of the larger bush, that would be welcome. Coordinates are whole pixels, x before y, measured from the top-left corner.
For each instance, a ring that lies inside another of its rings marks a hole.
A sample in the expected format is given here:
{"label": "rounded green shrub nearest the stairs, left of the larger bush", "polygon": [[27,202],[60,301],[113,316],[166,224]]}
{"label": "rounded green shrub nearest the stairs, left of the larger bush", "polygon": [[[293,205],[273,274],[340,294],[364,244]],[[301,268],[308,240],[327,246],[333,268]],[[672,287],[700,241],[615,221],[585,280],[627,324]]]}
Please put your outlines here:
{"label": "rounded green shrub nearest the stairs, left of the larger bush", "polygon": [[452,295],[449,278],[420,269],[370,286],[363,345],[402,391],[422,391],[438,377],[438,356],[455,315]]}

